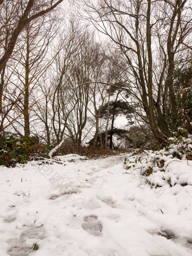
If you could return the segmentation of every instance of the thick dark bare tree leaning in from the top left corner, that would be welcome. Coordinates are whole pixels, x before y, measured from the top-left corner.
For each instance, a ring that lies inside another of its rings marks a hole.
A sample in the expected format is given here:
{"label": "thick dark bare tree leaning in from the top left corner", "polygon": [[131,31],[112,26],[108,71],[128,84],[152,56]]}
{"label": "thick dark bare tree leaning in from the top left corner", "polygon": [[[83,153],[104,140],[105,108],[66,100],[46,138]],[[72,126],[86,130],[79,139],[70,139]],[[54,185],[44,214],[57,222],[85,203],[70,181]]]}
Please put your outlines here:
{"label": "thick dark bare tree leaning in from the top left corner", "polygon": [[[3,90],[5,89],[5,71],[8,60],[16,54],[15,46],[20,41],[23,29],[33,20],[45,16],[59,5],[59,1],[4,0],[0,3],[0,113],[2,114]],[[2,125],[1,125],[2,126]]]}

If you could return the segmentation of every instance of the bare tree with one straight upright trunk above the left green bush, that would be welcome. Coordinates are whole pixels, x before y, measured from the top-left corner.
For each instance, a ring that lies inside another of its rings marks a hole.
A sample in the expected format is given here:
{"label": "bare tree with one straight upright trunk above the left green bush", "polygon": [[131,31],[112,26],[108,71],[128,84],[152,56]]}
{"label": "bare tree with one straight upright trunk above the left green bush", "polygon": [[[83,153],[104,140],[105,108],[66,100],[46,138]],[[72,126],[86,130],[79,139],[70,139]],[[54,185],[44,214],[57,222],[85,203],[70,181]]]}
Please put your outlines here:
{"label": "bare tree with one straight upright trunk above the left green bush", "polygon": [[18,67],[14,70],[14,75],[19,80],[19,86],[15,84],[15,88],[20,91],[23,99],[17,102],[17,106],[24,117],[23,120],[20,120],[20,123],[23,123],[25,136],[30,134],[29,115],[34,103],[39,98],[38,92],[36,97],[32,98],[30,96],[36,91],[37,86],[40,84],[40,77],[46,70],[48,62],[46,58],[47,50],[57,31],[54,21],[52,18],[32,21],[21,33],[25,41],[23,51],[18,49],[18,54],[21,55],[21,58],[19,59]]}

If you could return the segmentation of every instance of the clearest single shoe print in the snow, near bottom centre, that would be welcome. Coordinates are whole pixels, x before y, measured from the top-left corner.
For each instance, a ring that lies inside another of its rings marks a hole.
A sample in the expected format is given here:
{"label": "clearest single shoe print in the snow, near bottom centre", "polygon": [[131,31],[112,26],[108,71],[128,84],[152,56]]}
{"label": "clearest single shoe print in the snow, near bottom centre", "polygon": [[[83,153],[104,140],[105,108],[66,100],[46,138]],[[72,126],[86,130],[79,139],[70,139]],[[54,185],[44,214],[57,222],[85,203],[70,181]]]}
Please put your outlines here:
{"label": "clearest single shoe print in the snow, near bottom centre", "polygon": [[95,215],[85,216],[84,223],[82,223],[81,227],[90,233],[90,235],[101,236],[103,227],[97,218]]}

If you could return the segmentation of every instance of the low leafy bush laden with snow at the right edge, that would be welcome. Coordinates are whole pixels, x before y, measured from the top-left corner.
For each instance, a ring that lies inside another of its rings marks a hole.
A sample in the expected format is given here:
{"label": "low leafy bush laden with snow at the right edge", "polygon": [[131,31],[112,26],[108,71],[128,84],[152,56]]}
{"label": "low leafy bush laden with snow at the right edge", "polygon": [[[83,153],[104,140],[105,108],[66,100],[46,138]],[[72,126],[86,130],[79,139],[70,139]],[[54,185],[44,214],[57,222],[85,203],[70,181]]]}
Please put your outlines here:
{"label": "low leafy bush laden with snow at the right edge", "polygon": [[139,170],[152,188],[192,185],[192,136],[174,136],[168,142],[163,150],[145,150],[140,157],[125,158],[126,170]]}

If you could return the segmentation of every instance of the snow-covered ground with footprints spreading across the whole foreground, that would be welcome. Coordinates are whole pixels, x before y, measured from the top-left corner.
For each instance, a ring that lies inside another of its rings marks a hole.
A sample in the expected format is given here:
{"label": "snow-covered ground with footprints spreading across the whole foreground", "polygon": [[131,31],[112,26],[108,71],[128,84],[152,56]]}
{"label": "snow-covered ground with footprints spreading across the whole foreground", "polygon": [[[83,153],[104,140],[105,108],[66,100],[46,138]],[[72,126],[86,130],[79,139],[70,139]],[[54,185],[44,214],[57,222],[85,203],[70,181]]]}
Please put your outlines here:
{"label": "snow-covered ground with footprints spreading across the whole foreground", "polygon": [[[125,157],[0,167],[0,255],[192,255],[192,186],[151,188]],[[166,172],[188,175],[188,164],[172,161]]]}

